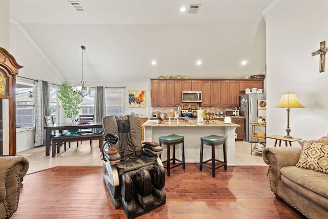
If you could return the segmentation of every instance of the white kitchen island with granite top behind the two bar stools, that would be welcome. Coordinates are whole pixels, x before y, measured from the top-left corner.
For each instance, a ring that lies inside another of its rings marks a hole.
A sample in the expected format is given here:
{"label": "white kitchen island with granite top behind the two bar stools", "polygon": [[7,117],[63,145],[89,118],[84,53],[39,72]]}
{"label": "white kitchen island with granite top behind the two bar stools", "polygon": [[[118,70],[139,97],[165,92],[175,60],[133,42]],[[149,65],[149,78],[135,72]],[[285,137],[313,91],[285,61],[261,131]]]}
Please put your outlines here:
{"label": "white kitchen island with granite top behind the two bar stools", "polygon": [[[227,164],[235,166],[235,130],[240,127],[238,124],[224,124],[223,121],[215,120],[209,123],[197,123],[197,120],[165,121],[158,124],[157,120],[148,120],[142,124],[145,130],[145,142],[158,142],[159,136],[176,134],[185,136],[185,161],[188,163],[199,163],[200,137],[216,134],[226,136],[227,144]],[[181,157],[180,146],[175,149],[176,157]],[[166,147],[164,148],[166,150]],[[211,158],[211,147],[204,146],[203,160]],[[217,158],[223,159],[222,145],[216,147]],[[166,153],[161,154],[162,160],[166,160]]]}

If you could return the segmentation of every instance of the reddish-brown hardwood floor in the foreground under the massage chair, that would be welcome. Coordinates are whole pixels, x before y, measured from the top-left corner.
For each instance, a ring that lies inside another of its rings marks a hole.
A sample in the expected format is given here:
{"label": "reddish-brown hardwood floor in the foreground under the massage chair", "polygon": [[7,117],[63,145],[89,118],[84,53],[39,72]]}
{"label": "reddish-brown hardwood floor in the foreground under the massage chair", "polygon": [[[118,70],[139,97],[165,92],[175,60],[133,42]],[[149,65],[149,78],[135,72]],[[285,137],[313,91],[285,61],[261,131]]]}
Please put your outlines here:
{"label": "reddish-brown hardwood floor in the foreground under the massage chair", "polygon": [[[275,198],[268,167],[228,166],[211,170],[186,164],[166,177],[165,205],[138,218],[303,218]],[[126,218],[115,210],[103,182],[102,167],[58,166],[24,177],[12,219]]]}

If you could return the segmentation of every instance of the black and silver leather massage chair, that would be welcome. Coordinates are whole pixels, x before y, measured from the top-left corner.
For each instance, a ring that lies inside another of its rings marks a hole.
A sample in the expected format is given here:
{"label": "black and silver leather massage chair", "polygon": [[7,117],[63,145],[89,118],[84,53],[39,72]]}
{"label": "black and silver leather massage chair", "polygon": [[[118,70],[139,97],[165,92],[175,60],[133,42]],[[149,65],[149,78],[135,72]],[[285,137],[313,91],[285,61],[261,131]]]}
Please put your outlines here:
{"label": "black and silver leather massage chair", "polygon": [[145,214],[166,203],[165,169],[154,142],[141,145],[141,122],[136,115],[103,118],[104,182],[115,209],[128,218]]}

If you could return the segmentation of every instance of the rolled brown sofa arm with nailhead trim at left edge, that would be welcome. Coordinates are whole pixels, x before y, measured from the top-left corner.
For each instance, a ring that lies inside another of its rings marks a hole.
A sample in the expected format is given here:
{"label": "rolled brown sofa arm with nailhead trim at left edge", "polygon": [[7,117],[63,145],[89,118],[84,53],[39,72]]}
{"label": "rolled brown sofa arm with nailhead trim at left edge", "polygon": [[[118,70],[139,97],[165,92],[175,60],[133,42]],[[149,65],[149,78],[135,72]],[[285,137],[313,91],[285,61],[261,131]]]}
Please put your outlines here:
{"label": "rolled brown sofa arm with nailhead trim at left edge", "polygon": [[0,157],[0,218],[9,218],[17,211],[20,184],[29,169],[23,156]]}

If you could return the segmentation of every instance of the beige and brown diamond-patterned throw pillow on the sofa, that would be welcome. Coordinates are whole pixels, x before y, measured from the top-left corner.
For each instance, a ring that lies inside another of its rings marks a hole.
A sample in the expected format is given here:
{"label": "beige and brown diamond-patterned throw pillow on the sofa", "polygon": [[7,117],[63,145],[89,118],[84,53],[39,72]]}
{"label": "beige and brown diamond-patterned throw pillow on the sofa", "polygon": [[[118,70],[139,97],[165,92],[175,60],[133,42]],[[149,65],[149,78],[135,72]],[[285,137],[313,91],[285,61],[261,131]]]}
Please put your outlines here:
{"label": "beige and brown diamond-patterned throw pillow on the sofa", "polygon": [[296,167],[328,174],[328,144],[305,141]]}

